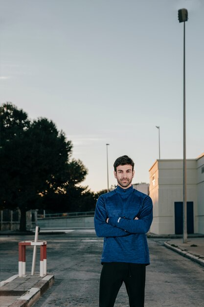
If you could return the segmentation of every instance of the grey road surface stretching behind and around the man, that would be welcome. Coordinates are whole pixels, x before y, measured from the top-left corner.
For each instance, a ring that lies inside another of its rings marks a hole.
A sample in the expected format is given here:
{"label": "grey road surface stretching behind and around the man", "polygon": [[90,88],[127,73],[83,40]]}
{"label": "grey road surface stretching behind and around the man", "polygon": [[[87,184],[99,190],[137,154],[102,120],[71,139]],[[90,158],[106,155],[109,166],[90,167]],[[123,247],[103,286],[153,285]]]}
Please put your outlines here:
{"label": "grey road surface stretching behind and around the man", "polygon": [[[18,274],[18,242],[30,236],[0,237],[0,280]],[[94,230],[39,236],[47,241],[47,272],[55,283],[34,307],[97,307],[103,240]],[[145,307],[204,307],[204,267],[148,239]],[[31,272],[32,248],[26,250],[26,273]],[[39,272],[39,253],[36,272]],[[128,307],[122,285],[115,307]]]}

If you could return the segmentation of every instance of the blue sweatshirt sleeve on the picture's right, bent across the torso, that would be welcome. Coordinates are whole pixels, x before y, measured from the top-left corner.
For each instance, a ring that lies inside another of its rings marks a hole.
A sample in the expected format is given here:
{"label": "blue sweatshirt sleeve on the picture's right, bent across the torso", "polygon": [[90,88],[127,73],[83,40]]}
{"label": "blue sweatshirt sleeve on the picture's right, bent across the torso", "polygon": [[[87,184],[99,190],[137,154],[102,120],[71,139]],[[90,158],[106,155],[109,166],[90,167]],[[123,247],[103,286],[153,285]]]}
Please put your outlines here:
{"label": "blue sweatshirt sleeve on the picture's right, bent across the torso", "polygon": [[153,220],[152,199],[145,197],[138,220],[130,220],[122,217],[110,217],[108,224],[131,233],[147,233]]}

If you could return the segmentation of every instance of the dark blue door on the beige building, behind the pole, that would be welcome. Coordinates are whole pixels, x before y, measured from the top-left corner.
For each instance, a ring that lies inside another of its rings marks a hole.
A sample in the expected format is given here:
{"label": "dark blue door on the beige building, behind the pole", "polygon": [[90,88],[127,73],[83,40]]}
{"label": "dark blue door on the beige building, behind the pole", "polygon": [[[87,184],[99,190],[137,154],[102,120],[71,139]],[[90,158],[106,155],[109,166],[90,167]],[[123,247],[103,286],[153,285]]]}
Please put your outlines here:
{"label": "dark blue door on the beige building, behind the pole", "polygon": [[[175,212],[175,233],[183,233],[183,203],[174,203]],[[193,223],[193,202],[187,202],[187,233],[194,233]]]}

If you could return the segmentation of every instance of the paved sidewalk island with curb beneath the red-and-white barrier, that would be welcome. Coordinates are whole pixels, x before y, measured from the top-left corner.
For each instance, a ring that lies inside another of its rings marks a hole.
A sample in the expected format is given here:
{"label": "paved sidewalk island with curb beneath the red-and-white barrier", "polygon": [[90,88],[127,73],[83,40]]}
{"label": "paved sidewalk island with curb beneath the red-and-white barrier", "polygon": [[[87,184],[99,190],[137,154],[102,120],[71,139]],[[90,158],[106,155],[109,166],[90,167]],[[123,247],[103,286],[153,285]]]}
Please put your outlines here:
{"label": "paved sidewalk island with curb beneath the red-and-white barrier", "polygon": [[0,282],[1,307],[30,307],[53,284],[54,275],[14,275]]}

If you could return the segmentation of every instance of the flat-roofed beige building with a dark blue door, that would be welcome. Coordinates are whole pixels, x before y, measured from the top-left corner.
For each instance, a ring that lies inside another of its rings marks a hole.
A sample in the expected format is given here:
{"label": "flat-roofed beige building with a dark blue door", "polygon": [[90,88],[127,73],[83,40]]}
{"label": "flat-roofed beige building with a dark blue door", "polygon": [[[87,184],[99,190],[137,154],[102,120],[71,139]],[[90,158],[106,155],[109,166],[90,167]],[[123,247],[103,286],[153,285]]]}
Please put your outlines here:
{"label": "flat-roofed beige building with a dark blue door", "polygon": [[[204,234],[204,153],[186,160],[187,232]],[[157,234],[182,233],[183,160],[157,160],[149,170],[153,223]]]}

